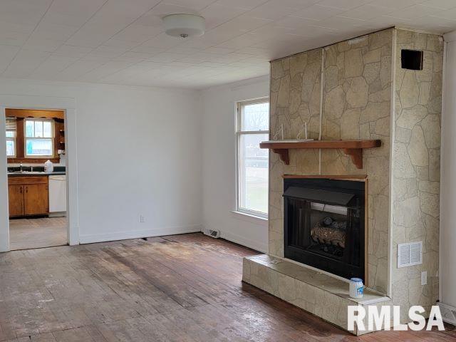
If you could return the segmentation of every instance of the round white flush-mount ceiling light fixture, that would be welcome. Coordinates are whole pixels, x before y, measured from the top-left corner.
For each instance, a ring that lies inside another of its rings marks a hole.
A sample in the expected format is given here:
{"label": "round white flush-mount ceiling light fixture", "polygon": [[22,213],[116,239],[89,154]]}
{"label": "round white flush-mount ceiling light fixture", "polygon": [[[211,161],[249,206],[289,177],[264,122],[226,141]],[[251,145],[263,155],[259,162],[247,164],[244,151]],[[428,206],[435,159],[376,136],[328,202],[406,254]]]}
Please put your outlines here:
{"label": "round white flush-mount ceiling light fixture", "polygon": [[166,34],[170,36],[187,38],[204,34],[205,21],[202,16],[197,16],[196,14],[170,14],[162,20]]}

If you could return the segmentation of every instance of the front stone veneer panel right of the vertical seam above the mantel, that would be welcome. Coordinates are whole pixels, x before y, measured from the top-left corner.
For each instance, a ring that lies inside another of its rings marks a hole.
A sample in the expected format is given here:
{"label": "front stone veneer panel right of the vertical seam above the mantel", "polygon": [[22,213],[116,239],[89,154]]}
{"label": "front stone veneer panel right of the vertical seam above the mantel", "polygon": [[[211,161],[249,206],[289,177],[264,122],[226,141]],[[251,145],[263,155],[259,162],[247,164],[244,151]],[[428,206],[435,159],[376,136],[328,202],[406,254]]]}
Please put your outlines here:
{"label": "front stone veneer panel right of the vertical seam above the mantel", "polygon": [[322,140],[380,139],[363,170],[341,150],[321,151],[322,175],[368,175],[368,286],[388,293],[393,29],[324,48]]}

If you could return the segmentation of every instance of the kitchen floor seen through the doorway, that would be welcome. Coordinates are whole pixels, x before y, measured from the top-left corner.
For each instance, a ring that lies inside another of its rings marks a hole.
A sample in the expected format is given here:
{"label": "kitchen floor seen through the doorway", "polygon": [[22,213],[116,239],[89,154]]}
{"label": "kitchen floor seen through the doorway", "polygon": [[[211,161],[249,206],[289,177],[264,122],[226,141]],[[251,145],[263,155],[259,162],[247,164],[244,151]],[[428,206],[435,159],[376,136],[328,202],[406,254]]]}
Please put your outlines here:
{"label": "kitchen floor seen through the doorway", "polygon": [[10,219],[9,247],[32,249],[66,244],[66,217]]}

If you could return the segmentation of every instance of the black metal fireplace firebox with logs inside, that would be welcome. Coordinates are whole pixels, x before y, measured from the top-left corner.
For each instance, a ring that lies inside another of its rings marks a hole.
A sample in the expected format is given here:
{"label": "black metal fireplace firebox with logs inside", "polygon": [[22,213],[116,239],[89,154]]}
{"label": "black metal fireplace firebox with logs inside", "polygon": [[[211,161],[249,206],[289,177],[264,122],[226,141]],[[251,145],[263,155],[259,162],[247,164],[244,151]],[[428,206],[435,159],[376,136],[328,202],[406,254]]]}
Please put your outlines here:
{"label": "black metal fireplace firebox with logs inside", "polygon": [[284,180],[284,257],[366,279],[365,182]]}

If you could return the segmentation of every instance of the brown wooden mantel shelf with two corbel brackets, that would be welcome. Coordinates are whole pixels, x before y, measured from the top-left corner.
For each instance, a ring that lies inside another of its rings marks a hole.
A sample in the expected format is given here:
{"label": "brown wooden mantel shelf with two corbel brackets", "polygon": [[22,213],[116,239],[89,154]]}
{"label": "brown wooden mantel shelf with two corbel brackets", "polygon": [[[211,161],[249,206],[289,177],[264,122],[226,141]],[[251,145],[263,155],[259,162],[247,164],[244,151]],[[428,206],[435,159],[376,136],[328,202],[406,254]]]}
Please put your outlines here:
{"label": "brown wooden mantel shelf with two corbel brackets", "polygon": [[260,142],[260,148],[267,148],[272,152],[277,153],[280,159],[289,165],[289,150],[290,149],[340,149],[346,155],[351,156],[351,161],[358,167],[363,168],[363,149],[380,147],[381,140],[305,140],[305,141],[265,141]]}

